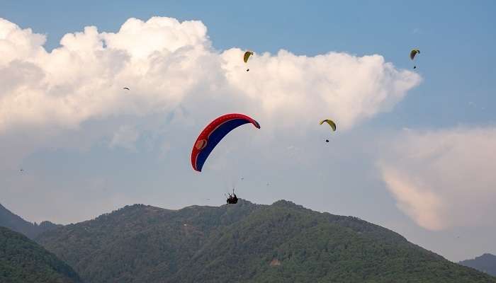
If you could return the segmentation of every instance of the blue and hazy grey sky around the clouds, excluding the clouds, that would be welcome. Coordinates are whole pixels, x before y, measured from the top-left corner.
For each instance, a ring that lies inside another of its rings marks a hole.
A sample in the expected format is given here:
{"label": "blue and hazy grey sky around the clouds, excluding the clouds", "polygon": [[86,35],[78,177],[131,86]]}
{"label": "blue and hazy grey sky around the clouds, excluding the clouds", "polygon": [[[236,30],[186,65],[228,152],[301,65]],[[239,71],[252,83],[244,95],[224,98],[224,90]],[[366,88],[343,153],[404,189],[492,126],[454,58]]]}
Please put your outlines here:
{"label": "blue and hazy grey sky around the clouds, excluding the clouds", "polygon": [[[236,183],[244,186],[240,190],[242,197],[248,200],[271,203],[285,198],[319,211],[356,215],[398,231],[410,241],[451,260],[483,252],[496,253],[492,243],[496,237],[494,221],[476,226],[458,223],[435,231],[427,229],[429,224],[422,226],[419,224],[422,221],[398,208],[397,199],[385,188],[376,166],[384,151],[381,145],[389,147],[388,142],[401,135],[404,128],[419,131],[414,139],[421,139],[422,131],[494,127],[495,12],[494,1],[436,1],[434,4],[430,1],[415,1],[415,4],[408,1],[314,1],[312,5],[304,1],[291,4],[287,1],[249,1],[247,4],[233,1],[216,4],[205,1],[70,4],[67,1],[1,1],[0,18],[47,35],[45,49],[48,51],[60,47],[63,35],[80,32],[85,26],[95,25],[100,33],[116,33],[128,18],[147,21],[152,16],[201,21],[208,28],[208,37],[218,53],[238,47],[271,54],[283,49],[308,57],[327,52],[346,52],[356,57],[380,54],[395,68],[412,70],[413,64],[408,58],[410,49],[422,50],[415,62],[422,81],[408,89],[407,95],[390,111],[380,111],[333,137],[335,151],[320,153],[321,138],[327,134],[318,128],[305,132],[303,137],[291,137],[281,131],[273,134],[271,139],[275,141],[271,144],[298,149],[300,154],[296,153],[293,159],[298,163],[272,160],[271,154],[284,156],[283,151],[274,152],[263,145],[255,147],[261,157],[254,159],[253,152],[246,148],[251,142],[257,144],[260,138],[259,135],[252,137],[247,129],[232,133],[232,141],[243,146],[221,145],[224,147],[219,149],[218,156],[222,158],[213,161],[220,162],[221,167],[222,162],[229,161],[229,173],[215,171],[195,175],[188,163],[190,144],[194,133],[208,121],[198,119],[186,126],[174,124],[174,115],[181,115],[182,110],[179,114],[171,110],[164,115],[165,119],[160,118],[161,113],[139,119],[133,115],[106,119],[96,116],[83,120],[69,134],[57,135],[53,144],[50,139],[43,139],[39,145],[33,142],[35,145],[31,144],[29,150],[20,149],[23,154],[18,166],[29,168],[29,180],[5,171],[4,175],[10,175],[4,178],[8,192],[2,202],[29,220],[68,223],[133,202],[167,208],[219,205],[223,200],[217,200],[222,199],[217,196],[222,196]],[[361,83],[356,81],[356,84]],[[198,109],[185,108],[183,115],[190,115],[188,117]],[[225,102],[218,110],[205,110],[208,115],[202,117],[213,117],[216,111],[222,114],[230,109]],[[162,124],[157,122],[161,119]],[[139,130],[135,144],[131,148],[108,146],[112,137],[105,133],[115,132],[123,125]],[[49,129],[55,132],[57,127]],[[10,136],[4,134],[4,139],[21,140],[22,131]],[[312,134],[318,140],[313,139]],[[72,142],[77,146],[67,146]],[[161,157],[164,145],[171,146],[166,150],[167,158]],[[301,157],[302,152],[308,156]],[[398,158],[392,158],[391,163]],[[244,175],[242,184],[239,175]],[[87,187],[95,189],[86,190]],[[26,200],[22,192],[33,197]],[[44,194],[45,202],[35,197]],[[52,197],[59,196],[60,202],[74,207],[77,212],[67,213],[64,205],[50,203]],[[208,202],[208,198],[215,201]],[[492,201],[496,204],[496,199]],[[26,204],[33,209],[27,209]],[[474,241],[477,244],[468,246]],[[463,245],[466,248],[460,250]]]}

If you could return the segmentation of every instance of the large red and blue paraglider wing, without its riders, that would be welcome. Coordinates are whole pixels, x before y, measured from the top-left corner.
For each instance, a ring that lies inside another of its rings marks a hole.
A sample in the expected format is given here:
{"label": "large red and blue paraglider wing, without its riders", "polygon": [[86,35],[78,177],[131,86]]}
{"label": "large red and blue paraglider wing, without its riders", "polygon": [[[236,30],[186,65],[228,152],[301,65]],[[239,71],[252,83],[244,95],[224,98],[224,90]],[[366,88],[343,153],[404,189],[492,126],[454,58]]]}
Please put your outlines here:
{"label": "large red and blue paraglider wing, without its riders", "polygon": [[237,113],[222,115],[210,122],[198,136],[195,144],[193,144],[193,150],[191,151],[191,166],[193,166],[193,169],[201,172],[203,164],[215,146],[233,129],[247,123],[251,123],[254,127],[260,129],[257,121],[247,115]]}

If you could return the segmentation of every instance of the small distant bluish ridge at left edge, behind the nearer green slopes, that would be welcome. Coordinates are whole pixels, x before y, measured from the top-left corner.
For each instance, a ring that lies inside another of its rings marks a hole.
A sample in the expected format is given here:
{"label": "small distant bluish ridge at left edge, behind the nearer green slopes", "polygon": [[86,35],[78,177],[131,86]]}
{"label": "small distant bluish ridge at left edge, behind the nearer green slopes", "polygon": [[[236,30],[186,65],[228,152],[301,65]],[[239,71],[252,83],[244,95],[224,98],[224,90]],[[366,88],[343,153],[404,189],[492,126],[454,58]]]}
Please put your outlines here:
{"label": "small distant bluish ridge at left edge, behind the nearer green slopes", "polygon": [[0,226],[22,233],[28,238],[35,238],[40,233],[55,229],[61,225],[53,224],[50,221],[43,221],[39,225],[30,223],[0,204]]}

